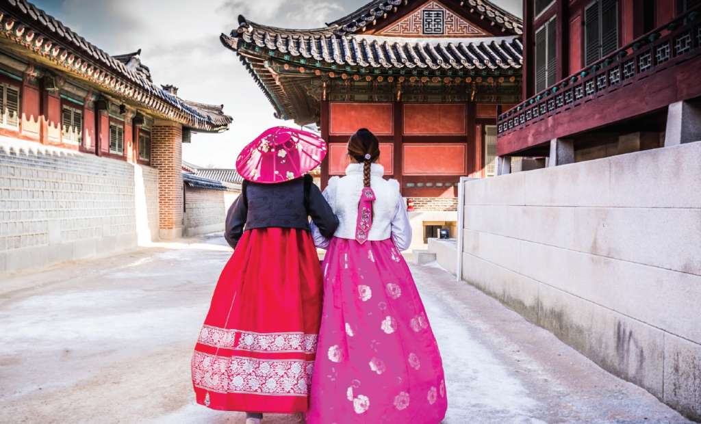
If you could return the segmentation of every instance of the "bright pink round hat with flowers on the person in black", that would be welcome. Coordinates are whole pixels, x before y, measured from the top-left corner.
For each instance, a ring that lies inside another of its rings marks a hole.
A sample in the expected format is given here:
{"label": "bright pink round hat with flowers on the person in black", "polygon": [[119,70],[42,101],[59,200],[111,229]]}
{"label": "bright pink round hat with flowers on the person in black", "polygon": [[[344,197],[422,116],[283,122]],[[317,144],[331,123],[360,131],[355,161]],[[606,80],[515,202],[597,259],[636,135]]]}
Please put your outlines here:
{"label": "bright pink round hat with flowers on the person in black", "polygon": [[236,170],[250,182],[275,184],[313,170],[326,152],[326,142],[313,132],[274,127],[243,148]]}

